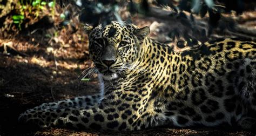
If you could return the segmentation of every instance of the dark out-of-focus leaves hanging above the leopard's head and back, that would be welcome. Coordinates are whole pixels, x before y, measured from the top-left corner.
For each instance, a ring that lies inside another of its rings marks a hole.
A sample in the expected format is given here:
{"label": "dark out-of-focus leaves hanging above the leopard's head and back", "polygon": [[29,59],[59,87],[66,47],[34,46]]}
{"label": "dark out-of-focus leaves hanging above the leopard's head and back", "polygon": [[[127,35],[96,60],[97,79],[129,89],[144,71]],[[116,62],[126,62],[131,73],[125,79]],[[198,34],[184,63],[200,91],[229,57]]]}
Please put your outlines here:
{"label": "dark out-of-focus leaves hanging above the leopard's head and back", "polygon": [[[244,9],[244,2],[242,0],[155,0],[150,3],[146,0],[141,1],[77,1],[79,8],[82,9],[80,13],[80,21],[84,23],[97,26],[99,23],[106,25],[113,20],[122,21],[118,15],[118,9],[123,6],[127,6],[127,10],[131,15],[139,13],[140,15],[147,16],[150,12],[150,6],[152,4],[157,6],[169,6],[173,13],[170,16],[180,19],[181,23],[193,29],[194,15],[199,15],[204,18],[208,13],[208,25],[210,30],[208,33],[202,31],[202,35],[211,35],[212,29],[216,28],[221,18],[221,13],[230,12],[231,10],[241,13]],[[127,3],[127,4],[124,4]],[[190,17],[187,17],[184,13],[190,12]],[[230,23],[234,25],[234,23]],[[233,26],[228,26],[233,28]],[[170,36],[178,35],[170,33]]]}

